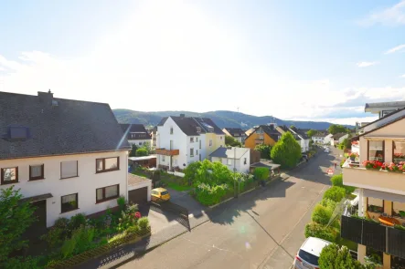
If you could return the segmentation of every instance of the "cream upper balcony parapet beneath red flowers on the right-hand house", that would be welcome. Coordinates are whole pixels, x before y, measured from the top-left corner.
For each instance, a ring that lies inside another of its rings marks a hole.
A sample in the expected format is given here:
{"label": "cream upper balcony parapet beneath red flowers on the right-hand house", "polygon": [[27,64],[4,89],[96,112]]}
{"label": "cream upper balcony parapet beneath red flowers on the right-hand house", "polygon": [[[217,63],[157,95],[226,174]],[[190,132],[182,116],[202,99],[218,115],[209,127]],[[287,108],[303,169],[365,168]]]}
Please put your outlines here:
{"label": "cream upper balcony parapet beneath red flowers on the right-hand house", "polygon": [[347,165],[345,163],[343,175],[343,183],[347,186],[400,195],[405,193],[405,173],[367,170],[358,163]]}

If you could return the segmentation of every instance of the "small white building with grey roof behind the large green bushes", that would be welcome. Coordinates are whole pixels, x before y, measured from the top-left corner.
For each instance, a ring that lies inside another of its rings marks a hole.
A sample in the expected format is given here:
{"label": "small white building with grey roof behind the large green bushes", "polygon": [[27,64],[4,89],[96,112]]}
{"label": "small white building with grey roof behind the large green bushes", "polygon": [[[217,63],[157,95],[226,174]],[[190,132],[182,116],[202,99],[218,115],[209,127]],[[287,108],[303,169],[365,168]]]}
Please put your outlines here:
{"label": "small white building with grey roof behind the large green bushes", "polygon": [[239,171],[248,173],[250,168],[250,149],[249,148],[225,148],[219,147],[209,154],[211,161],[219,161],[228,166],[230,171]]}

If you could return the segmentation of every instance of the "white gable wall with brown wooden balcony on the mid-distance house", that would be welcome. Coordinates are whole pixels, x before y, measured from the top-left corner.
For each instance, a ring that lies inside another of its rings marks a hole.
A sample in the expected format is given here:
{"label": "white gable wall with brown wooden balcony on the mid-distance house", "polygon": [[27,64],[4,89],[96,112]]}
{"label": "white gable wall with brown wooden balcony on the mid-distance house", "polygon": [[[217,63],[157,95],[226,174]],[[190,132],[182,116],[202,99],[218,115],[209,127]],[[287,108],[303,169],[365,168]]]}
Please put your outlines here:
{"label": "white gable wall with brown wooden balcony on the mid-distance house", "polygon": [[[173,134],[170,134],[170,128],[173,127]],[[178,166],[180,169],[184,169],[183,164],[187,165],[187,136],[186,134],[176,125],[176,122],[170,117],[166,119],[163,126],[157,127],[156,133],[156,148],[157,149],[167,149],[170,150],[170,140],[173,140],[173,149],[179,150],[179,154],[173,157],[162,155],[156,155],[157,166],[170,164],[170,158],[173,158],[173,166]]]}

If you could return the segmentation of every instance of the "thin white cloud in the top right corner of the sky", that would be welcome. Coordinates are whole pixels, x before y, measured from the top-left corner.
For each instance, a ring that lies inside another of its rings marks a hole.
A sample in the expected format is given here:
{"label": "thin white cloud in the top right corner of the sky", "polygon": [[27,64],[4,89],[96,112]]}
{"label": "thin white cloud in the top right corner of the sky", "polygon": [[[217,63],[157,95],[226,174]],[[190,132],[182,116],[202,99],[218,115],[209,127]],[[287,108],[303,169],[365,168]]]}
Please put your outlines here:
{"label": "thin white cloud in the top right corner of the sky", "polygon": [[360,25],[372,26],[381,24],[384,26],[405,25],[405,0],[388,8],[370,13],[365,19],[362,19]]}

